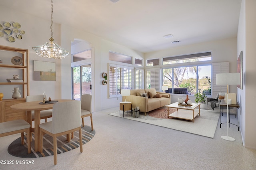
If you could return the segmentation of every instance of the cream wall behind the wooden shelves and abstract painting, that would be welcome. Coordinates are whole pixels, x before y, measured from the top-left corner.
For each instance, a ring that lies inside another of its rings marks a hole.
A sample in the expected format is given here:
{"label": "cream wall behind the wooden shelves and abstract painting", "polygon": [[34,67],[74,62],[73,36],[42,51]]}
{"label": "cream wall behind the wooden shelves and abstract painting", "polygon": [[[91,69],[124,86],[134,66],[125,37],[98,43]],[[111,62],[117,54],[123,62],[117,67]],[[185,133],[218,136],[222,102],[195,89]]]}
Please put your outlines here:
{"label": "cream wall behind the wooden shelves and abstract painting", "polygon": [[[60,91],[60,84],[61,84],[61,72],[60,72],[60,60],[54,60],[54,59],[45,59],[44,57],[39,57],[36,55],[32,47],[37,45],[42,45],[45,42],[49,41],[49,38],[51,38],[51,32],[50,32],[50,21],[41,20],[39,18],[36,18],[34,16],[30,16],[28,14],[11,10],[9,8],[0,6],[0,16],[1,20],[0,23],[3,22],[10,22],[11,24],[13,22],[18,22],[21,24],[20,30],[24,30],[25,34],[23,35],[23,38],[21,40],[16,40],[14,43],[8,42],[6,40],[7,35],[0,38],[0,44],[4,46],[10,46],[10,47],[17,47],[17,48],[23,48],[29,50],[29,84],[30,84],[30,95],[36,95],[36,94],[42,94],[43,91],[45,91],[45,94],[48,97],[51,97],[52,99],[59,99],[61,97],[61,91]],[[60,26],[58,24],[53,25],[53,38],[55,39],[54,42],[60,44]],[[2,53],[2,51],[1,51]],[[14,55],[15,56],[15,55]],[[12,55],[0,55],[0,58],[3,59],[3,61],[7,62],[10,60],[13,56]],[[56,81],[34,81],[34,73],[33,73],[33,61],[49,61],[49,62],[56,62]],[[17,70],[18,71],[18,70]],[[1,73],[0,77],[11,78],[9,75],[8,77],[5,77]],[[13,90],[13,87],[16,87],[17,85],[1,85],[0,91],[4,93],[4,99],[10,99],[12,96],[11,91]]]}

